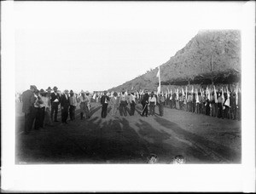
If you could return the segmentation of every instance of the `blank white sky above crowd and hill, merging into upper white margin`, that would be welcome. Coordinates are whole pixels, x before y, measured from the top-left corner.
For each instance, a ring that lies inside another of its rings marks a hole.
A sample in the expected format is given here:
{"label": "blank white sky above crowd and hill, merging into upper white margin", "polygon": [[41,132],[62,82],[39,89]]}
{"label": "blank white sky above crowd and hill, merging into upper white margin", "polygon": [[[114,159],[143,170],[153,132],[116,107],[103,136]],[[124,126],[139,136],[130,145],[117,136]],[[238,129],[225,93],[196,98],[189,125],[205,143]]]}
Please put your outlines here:
{"label": "blank white sky above crowd and hill, merging into upper white margin", "polygon": [[164,64],[202,29],[239,29],[242,3],[15,2],[15,90],[104,90]]}

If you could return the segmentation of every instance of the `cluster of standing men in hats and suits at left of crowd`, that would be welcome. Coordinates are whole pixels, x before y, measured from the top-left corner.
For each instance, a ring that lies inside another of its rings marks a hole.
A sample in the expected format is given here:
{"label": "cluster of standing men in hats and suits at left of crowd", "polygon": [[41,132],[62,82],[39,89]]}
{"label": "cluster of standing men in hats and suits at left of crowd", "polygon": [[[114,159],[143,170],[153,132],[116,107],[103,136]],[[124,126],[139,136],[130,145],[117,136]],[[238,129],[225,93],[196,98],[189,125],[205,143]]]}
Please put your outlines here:
{"label": "cluster of standing men in hats and suits at left of crowd", "polygon": [[34,128],[53,126],[58,121],[58,111],[61,108],[61,123],[67,124],[67,117],[75,120],[76,107],[80,106],[80,117],[90,117],[89,92],[81,91],[80,95],[74,94],[73,90],[64,90],[63,93],[57,87],[51,89],[38,88],[31,85],[21,95],[22,111],[25,113],[25,134],[29,134]]}

